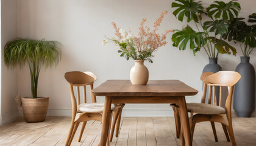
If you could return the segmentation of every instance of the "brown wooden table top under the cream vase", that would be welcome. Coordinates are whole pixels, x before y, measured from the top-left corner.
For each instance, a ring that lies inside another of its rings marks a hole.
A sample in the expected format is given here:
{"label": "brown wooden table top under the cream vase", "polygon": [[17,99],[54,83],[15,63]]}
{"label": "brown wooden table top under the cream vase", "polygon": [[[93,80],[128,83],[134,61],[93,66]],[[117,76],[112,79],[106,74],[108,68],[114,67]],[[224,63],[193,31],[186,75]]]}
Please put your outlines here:
{"label": "brown wooden table top under the cream vase", "polygon": [[107,80],[93,89],[95,96],[194,96],[197,90],[180,80],[149,80],[132,85],[130,80]]}

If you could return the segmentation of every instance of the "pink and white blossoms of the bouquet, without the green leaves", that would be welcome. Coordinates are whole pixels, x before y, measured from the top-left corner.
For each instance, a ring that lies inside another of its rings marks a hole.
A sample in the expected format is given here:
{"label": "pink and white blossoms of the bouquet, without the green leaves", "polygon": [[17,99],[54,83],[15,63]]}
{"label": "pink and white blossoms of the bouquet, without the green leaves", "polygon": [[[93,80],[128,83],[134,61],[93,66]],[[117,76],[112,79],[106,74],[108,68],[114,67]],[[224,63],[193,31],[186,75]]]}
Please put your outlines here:
{"label": "pink and white blossoms of the bouquet, without the green leaves", "polygon": [[[132,51],[130,47],[135,49],[135,52],[137,54],[137,58],[133,59],[141,59],[141,52],[155,52],[159,49],[161,46],[165,46],[168,42],[166,41],[166,35],[169,32],[174,32],[174,30],[166,30],[164,34],[157,33],[157,30],[160,27],[160,24],[163,21],[163,18],[167,14],[167,11],[162,12],[160,17],[156,19],[155,23],[153,24],[154,29],[150,29],[148,26],[145,25],[147,19],[143,18],[140,27],[138,27],[138,36],[134,36],[131,34],[131,31],[129,29],[128,32],[124,32],[123,29],[120,29],[119,27],[116,27],[115,23],[112,23],[116,33],[115,35],[118,36],[118,40],[113,40],[115,43],[127,43],[126,49],[128,52]],[[129,34],[129,35],[128,35]],[[131,45],[131,46],[129,46]],[[122,47],[122,46],[121,46]],[[154,57],[154,55],[147,56],[146,58],[143,58],[144,60]]]}

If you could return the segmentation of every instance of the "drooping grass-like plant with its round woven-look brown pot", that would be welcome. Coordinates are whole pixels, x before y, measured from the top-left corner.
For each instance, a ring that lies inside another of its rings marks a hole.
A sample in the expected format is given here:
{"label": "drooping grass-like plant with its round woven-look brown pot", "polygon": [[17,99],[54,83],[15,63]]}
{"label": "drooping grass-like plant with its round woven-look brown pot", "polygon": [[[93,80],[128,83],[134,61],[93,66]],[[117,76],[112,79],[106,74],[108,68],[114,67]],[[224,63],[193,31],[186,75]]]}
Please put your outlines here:
{"label": "drooping grass-like plant with its round woven-look brown pot", "polygon": [[23,68],[29,64],[31,96],[21,99],[26,122],[41,122],[46,118],[49,97],[37,96],[38,77],[43,66],[57,65],[60,57],[60,43],[57,41],[18,39],[5,44],[4,62],[7,67]]}

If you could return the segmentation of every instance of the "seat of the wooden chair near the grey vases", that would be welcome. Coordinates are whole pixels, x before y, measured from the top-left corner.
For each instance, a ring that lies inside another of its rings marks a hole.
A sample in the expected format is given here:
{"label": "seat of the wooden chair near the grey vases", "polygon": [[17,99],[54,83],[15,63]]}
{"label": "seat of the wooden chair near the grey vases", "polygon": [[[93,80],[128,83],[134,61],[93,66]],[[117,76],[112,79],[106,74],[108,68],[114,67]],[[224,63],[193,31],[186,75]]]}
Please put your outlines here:
{"label": "seat of the wooden chair near the grey vases", "polygon": [[225,114],[226,110],[216,105],[205,103],[187,103],[188,111],[193,111],[197,114]]}

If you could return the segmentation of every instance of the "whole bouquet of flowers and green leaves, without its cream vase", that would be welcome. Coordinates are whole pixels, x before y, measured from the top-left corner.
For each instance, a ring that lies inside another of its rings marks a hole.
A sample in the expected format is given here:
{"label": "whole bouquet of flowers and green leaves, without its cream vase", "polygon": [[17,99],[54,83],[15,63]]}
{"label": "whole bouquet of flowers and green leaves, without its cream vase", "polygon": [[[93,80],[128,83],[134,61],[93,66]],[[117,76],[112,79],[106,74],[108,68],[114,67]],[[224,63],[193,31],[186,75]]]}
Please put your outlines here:
{"label": "whole bouquet of flowers and green leaves, without its cream vase", "polygon": [[118,52],[121,54],[121,57],[125,57],[127,60],[132,58],[133,60],[148,60],[152,63],[151,58],[154,57],[152,55],[153,52],[157,51],[157,49],[161,46],[165,46],[167,44],[166,35],[169,32],[173,32],[173,30],[166,30],[165,34],[160,35],[157,33],[157,30],[160,27],[160,24],[163,21],[163,18],[167,14],[167,11],[164,11],[162,15],[155,21],[154,29],[149,29],[148,26],[145,26],[146,18],[143,18],[140,27],[138,27],[139,33],[138,37],[134,36],[130,29],[126,31],[116,26],[116,23],[112,23],[114,29],[116,30],[117,38],[107,38],[104,37],[102,44],[113,42],[120,49]]}

